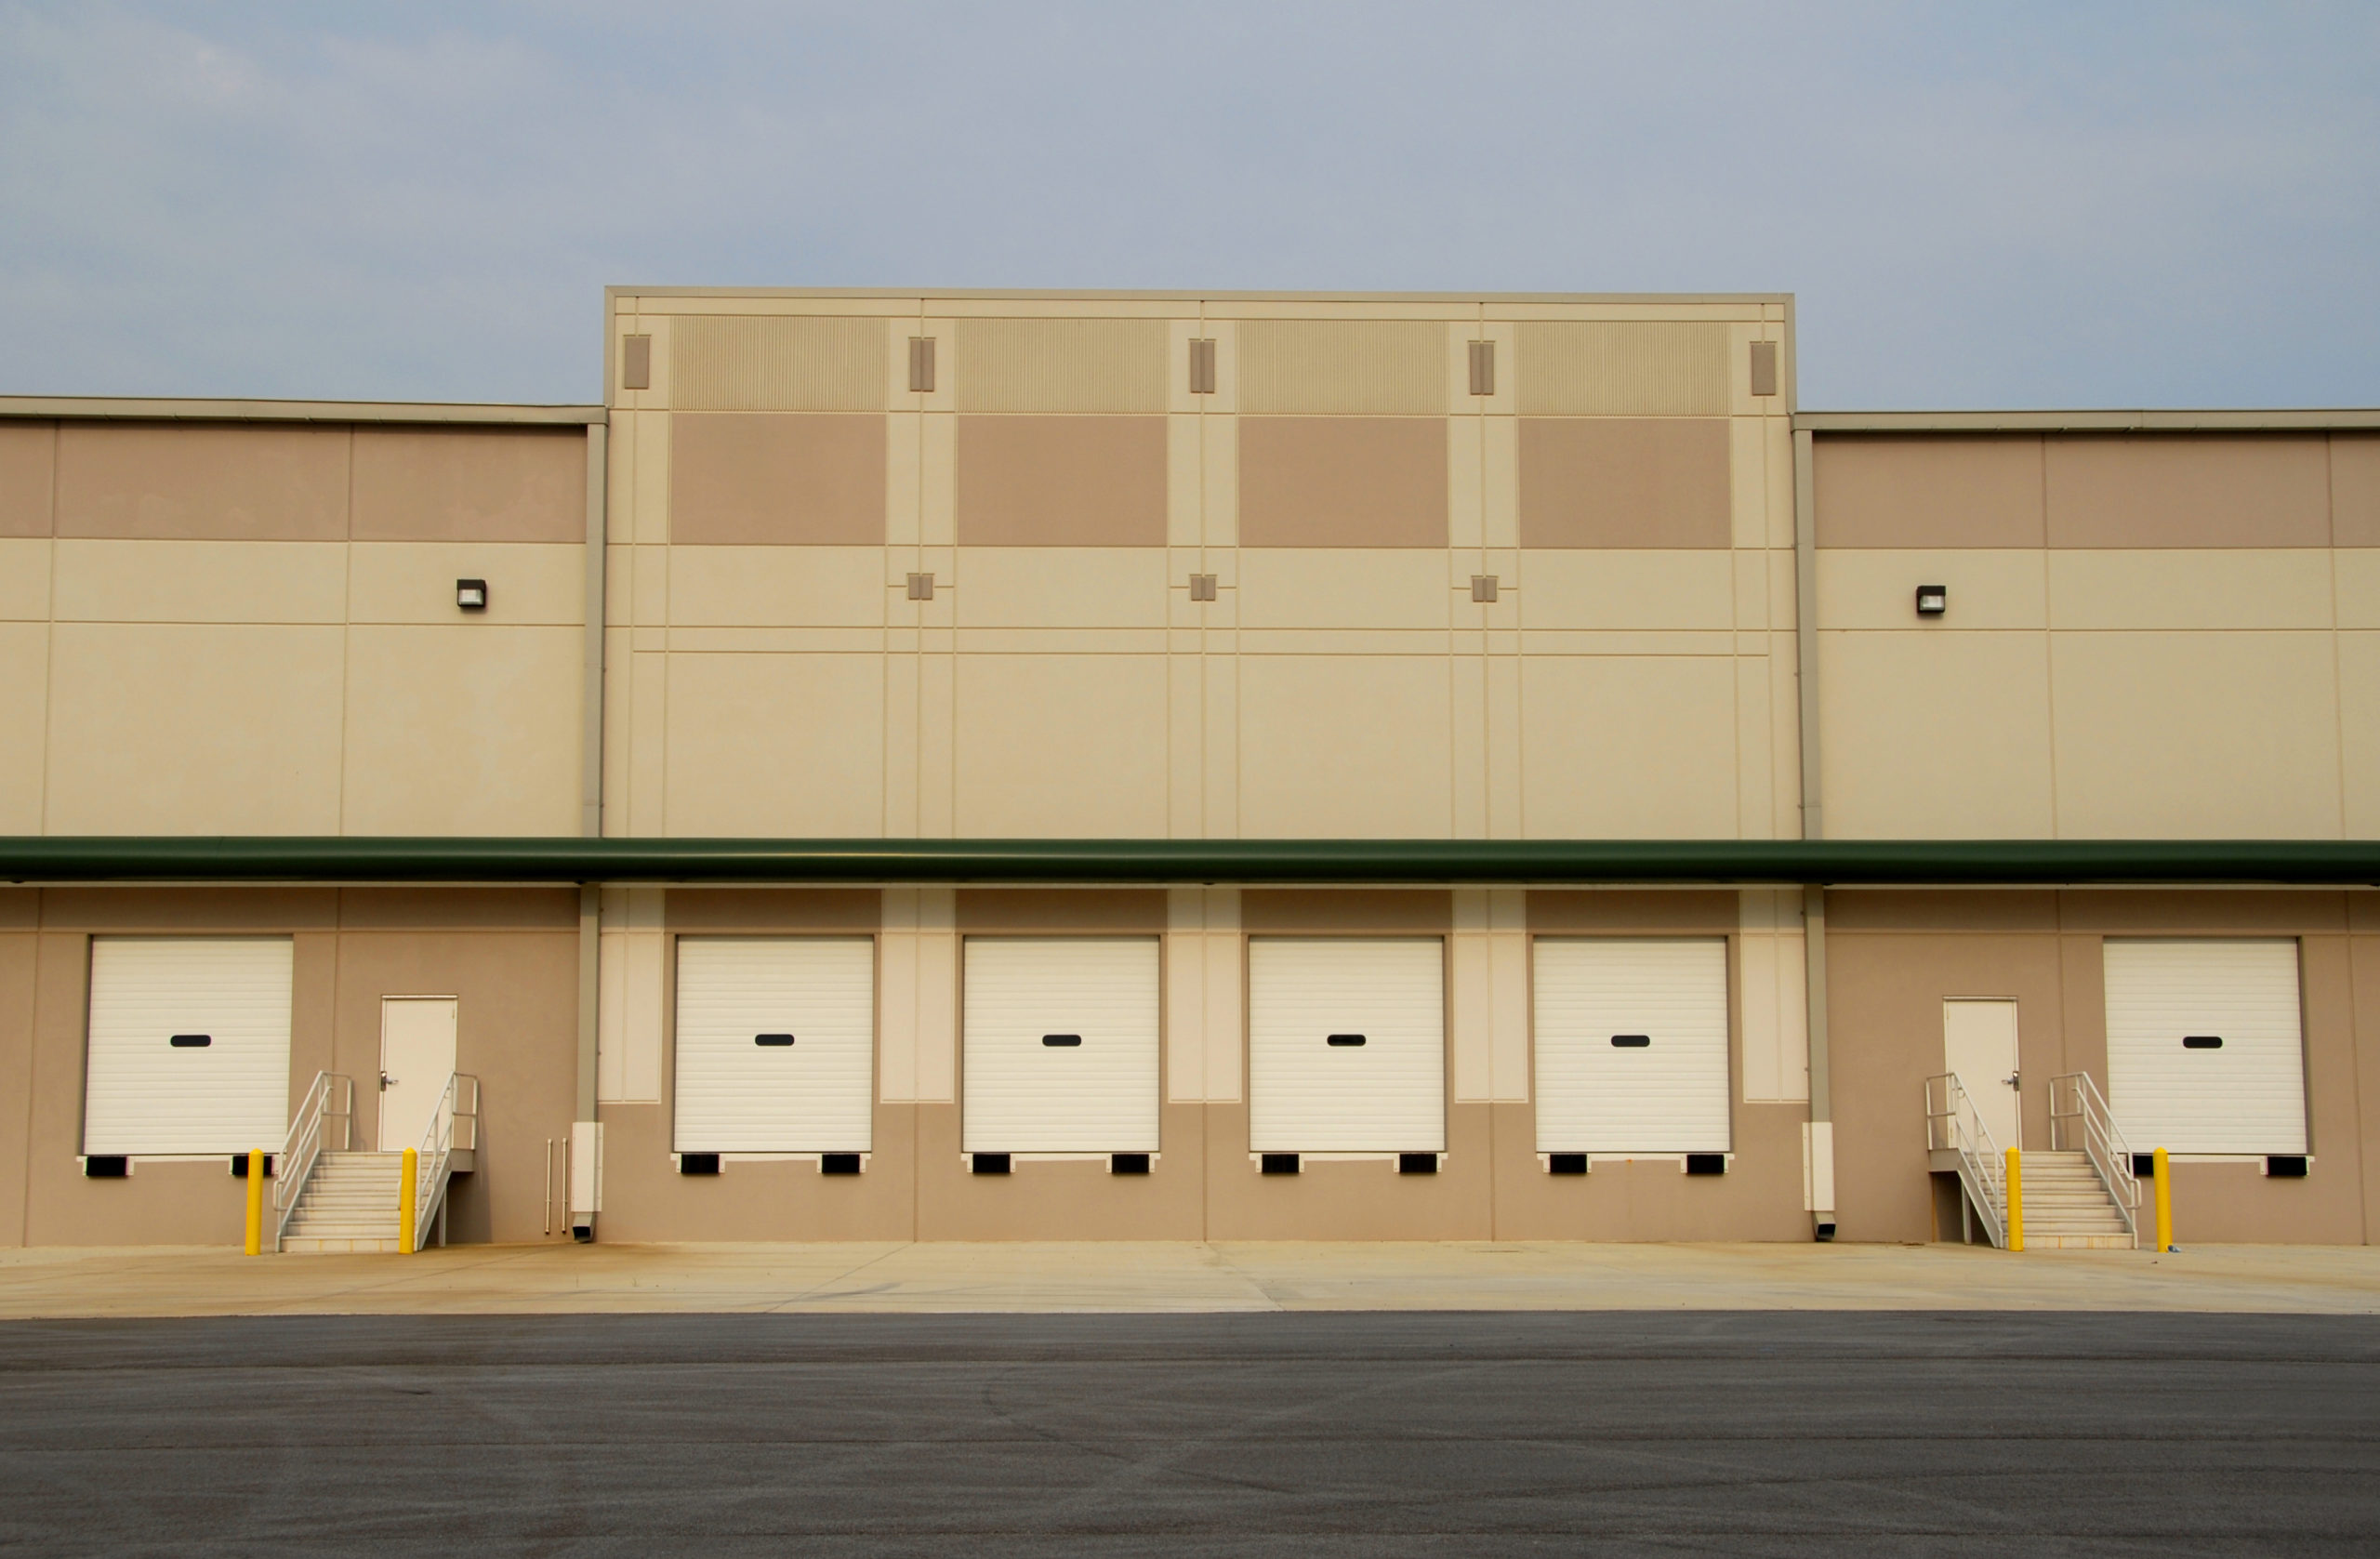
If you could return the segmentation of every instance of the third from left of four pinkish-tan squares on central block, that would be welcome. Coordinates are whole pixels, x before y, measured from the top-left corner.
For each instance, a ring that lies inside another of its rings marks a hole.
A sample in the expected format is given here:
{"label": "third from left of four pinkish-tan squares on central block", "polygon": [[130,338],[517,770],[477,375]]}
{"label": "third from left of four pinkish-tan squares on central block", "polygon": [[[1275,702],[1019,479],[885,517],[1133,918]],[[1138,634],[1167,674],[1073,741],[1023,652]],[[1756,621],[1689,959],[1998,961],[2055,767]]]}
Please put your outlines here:
{"label": "third from left of four pinkish-tan squares on central block", "polygon": [[1447,431],[1416,417],[1242,417],[1242,547],[1445,547]]}

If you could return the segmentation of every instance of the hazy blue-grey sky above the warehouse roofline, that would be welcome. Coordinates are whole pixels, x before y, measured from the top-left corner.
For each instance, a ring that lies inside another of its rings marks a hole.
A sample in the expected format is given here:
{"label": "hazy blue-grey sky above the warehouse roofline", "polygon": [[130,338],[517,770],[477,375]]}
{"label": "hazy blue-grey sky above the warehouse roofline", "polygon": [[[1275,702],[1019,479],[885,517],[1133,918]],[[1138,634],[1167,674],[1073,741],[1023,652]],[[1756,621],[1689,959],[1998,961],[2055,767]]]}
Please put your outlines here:
{"label": "hazy blue-grey sky above the warehouse roofline", "polygon": [[2380,405],[2375,5],[26,5],[0,393],[593,400],[607,283],[1790,290],[1806,407]]}

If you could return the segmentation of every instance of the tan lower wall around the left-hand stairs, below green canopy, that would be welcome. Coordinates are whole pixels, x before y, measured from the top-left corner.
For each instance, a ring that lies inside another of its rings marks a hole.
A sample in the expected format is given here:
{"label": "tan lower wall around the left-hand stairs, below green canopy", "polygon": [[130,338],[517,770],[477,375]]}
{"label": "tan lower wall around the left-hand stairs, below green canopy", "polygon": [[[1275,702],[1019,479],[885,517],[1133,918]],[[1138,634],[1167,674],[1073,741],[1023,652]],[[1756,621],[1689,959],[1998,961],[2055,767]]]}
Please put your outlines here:
{"label": "tan lower wall around the left-hand stairs, below green canopy", "polygon": [[[236,1245],[243,1183],[221,1162],[81,1173],[90,938],[290,935],[290,1104],[317,1071],[355,1081],[355,1147],[378,1147],[383,995],[459,1002],[457,1071],[481,1081],[474,1173],[450,1240],[538,1240],[547,1140],[571,1133],[578,895],[555,890],[14,890],[0,900],[0,1242]],[[269,1152],[281,1142],[259,1142]],[[559,1154],[555,1154],[559,1171]],[[555,1216],[566,1238],[566,1216]]]}

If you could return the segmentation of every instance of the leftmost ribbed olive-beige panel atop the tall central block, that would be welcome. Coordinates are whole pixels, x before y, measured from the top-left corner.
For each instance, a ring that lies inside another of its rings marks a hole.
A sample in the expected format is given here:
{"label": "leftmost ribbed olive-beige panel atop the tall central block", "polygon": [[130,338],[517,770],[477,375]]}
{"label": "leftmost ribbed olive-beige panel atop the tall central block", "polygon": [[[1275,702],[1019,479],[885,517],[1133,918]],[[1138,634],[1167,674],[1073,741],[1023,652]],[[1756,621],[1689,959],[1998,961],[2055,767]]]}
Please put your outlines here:
{"label": "leftmost ribbed olive-beige panel atop the tall central block", "polygon": [[883,412],[883,319],[683,314],[669,336],[678,412]]}

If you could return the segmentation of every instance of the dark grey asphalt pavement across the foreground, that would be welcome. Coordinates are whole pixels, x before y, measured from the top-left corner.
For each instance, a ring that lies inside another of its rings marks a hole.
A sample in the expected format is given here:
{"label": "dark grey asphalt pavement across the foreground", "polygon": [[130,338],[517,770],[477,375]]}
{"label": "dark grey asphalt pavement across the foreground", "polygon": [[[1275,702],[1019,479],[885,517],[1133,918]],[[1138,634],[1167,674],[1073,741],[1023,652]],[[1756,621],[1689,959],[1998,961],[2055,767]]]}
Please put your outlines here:
{"label": "dark grey asphalt pavement across the foreground", "polygon": [[2370,1554],[2380,1319],[0,1323],[57,1554]]}

